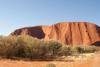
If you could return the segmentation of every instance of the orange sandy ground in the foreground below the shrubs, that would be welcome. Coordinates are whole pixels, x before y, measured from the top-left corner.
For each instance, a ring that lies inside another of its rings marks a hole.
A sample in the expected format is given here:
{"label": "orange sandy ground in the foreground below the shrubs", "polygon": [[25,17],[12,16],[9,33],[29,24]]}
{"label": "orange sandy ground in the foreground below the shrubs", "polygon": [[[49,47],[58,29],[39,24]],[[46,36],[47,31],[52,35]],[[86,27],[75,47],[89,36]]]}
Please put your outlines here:
{"label": "orange sandy ground in the foreground below the shrubs", "polygon": [[46,67],[47,64],[56,64],[56,67],[100,67],[100,54],[89,57],[86,60],[72,61],[18,61],[0,60],[0,67]]}

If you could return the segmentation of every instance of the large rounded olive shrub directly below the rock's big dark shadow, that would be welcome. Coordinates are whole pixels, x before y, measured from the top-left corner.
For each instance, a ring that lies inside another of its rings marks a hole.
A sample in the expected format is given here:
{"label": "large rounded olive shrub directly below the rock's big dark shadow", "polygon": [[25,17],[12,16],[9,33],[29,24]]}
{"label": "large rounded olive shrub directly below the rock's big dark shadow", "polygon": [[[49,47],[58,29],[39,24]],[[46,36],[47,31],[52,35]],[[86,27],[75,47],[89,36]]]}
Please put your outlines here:
{"label": "large rounded olive shrub directly below the rock's big dark shadow", "polygon": [[29,58],[40,58],[45,52],[43,41],[30,36],[20,36],[17,38],[17,45],[19,45],[18,55]]}

